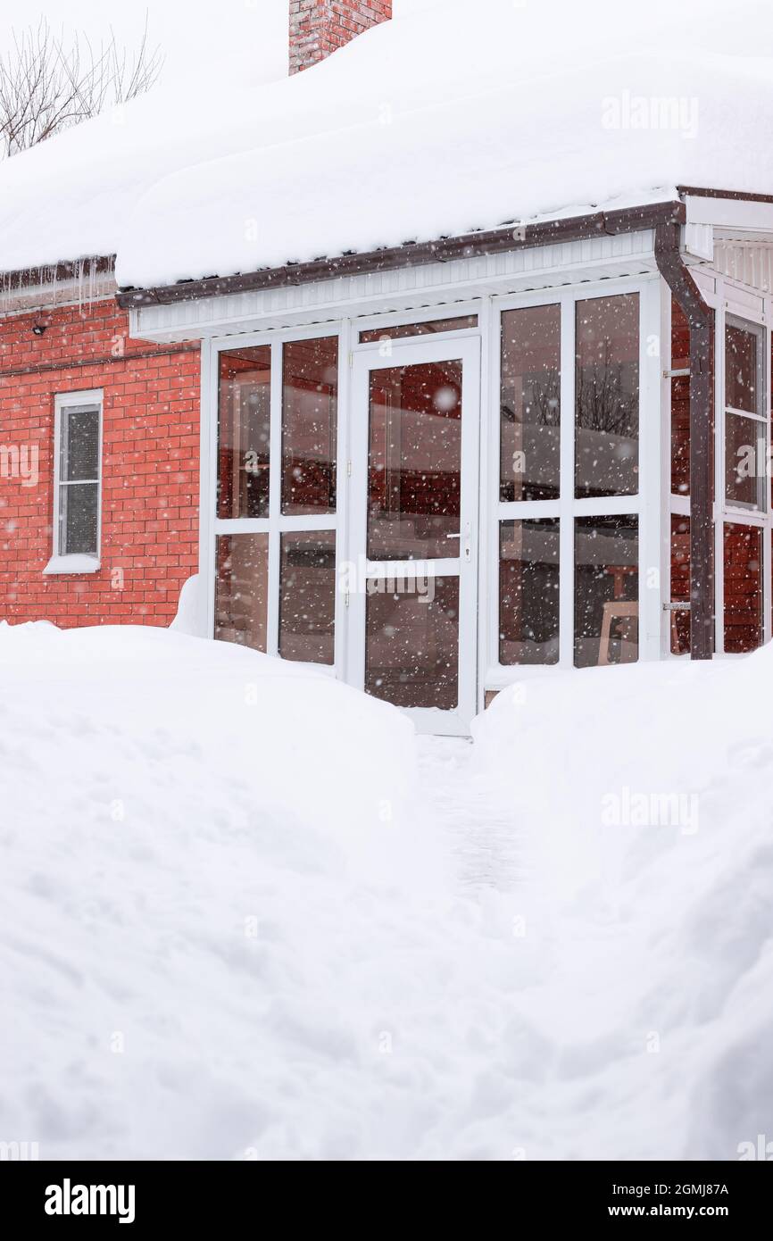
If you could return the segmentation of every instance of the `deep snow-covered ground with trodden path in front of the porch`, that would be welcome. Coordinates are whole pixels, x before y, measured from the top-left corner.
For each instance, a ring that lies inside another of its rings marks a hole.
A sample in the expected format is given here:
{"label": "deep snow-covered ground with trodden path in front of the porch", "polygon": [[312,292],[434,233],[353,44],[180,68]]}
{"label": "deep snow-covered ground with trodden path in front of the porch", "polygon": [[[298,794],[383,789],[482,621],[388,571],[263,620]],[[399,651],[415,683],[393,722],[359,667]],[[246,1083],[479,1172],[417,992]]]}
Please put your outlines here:
{"label": "deep snow-covered ground with trodden path in front of the porch", "polygon": [[474,743],[150,629],[0,627],[0,1139],[737,1158],[773,1137],[773,648]]}

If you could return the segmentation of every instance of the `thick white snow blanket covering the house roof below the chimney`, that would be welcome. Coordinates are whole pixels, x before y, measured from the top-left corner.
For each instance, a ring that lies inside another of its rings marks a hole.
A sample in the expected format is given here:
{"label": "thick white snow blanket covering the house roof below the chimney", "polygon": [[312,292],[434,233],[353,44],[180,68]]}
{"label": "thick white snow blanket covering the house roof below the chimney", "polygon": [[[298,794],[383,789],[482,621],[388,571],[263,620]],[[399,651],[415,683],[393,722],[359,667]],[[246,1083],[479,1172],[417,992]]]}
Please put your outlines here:
{"label": "thick white snow blanket covering the house roof below the chimney", "polygon": [[[124,141],[127,159],[103,160],[102,118],[9,161],[0,268],[115,251],[119,284],[154,287],[663,201],[681,184],[773,192],[772,36],[758,0],[403,0],[305,73],[207,94],[195,124],[187,104],[141,101],[135,137],[150,141]],[[77,220],[69,154],[87,129],[97,210]],[[65,217],[53,236],[40,208],[27,218],[41,170]]]}

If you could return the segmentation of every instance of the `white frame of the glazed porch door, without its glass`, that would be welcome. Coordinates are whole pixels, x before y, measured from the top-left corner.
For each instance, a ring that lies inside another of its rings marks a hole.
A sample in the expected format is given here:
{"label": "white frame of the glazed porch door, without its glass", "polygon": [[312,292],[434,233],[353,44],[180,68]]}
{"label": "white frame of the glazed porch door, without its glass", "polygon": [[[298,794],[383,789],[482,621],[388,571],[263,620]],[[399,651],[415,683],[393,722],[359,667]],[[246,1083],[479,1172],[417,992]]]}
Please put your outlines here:
{"label": "white frame of the glazed porch door, without its glass", "polygon": [[[462,361],[462,514],[458,555],[444,560],[390,562],[388,566],[365,560],[367,540],[369,477],[369,391],[373,370],[418,366],[431,362]],[[478,711],[478,544],[479,544],[479,453],[480,453],[480,338],[476,331],[443,335],[443,339],[418,336],[390,341],[388,350],[362,349],[352,354],[350,390],[350,452],[347,465],[347,546],[345,558],[351,581],[345,616],[346,681],[357,689],[365,685],[365,627],[367,580],[390,570],[411,576],[459,577],[459,705],[454,711],[436,707],[408,709],[422,732],[468,735]],[[360,571],[362,566],[364,572]]]}

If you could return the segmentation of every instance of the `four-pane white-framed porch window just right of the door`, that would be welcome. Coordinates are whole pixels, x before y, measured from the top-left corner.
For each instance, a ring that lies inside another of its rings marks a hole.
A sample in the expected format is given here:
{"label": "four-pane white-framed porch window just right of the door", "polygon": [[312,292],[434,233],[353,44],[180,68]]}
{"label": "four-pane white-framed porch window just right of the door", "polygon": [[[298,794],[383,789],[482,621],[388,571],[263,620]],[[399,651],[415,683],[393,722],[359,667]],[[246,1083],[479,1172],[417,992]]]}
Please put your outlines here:
{"label": "four-pane white-framed porch window just right of the door", "polygon": [[638,292],[501,314],[500,666],[638,659],[640,335]]}

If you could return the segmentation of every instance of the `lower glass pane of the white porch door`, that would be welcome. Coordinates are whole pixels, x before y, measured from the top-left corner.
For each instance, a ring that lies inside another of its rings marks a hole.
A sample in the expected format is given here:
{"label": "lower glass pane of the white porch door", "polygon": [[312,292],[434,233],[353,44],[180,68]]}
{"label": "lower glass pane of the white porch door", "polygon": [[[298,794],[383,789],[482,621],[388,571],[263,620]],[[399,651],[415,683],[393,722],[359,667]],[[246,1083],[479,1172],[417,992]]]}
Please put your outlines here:
{"label": "lower glass pane of the white porch door", "polygon": [[459,578],[369,583],[365,690],[403,707],[453,710],[459,701]]}

